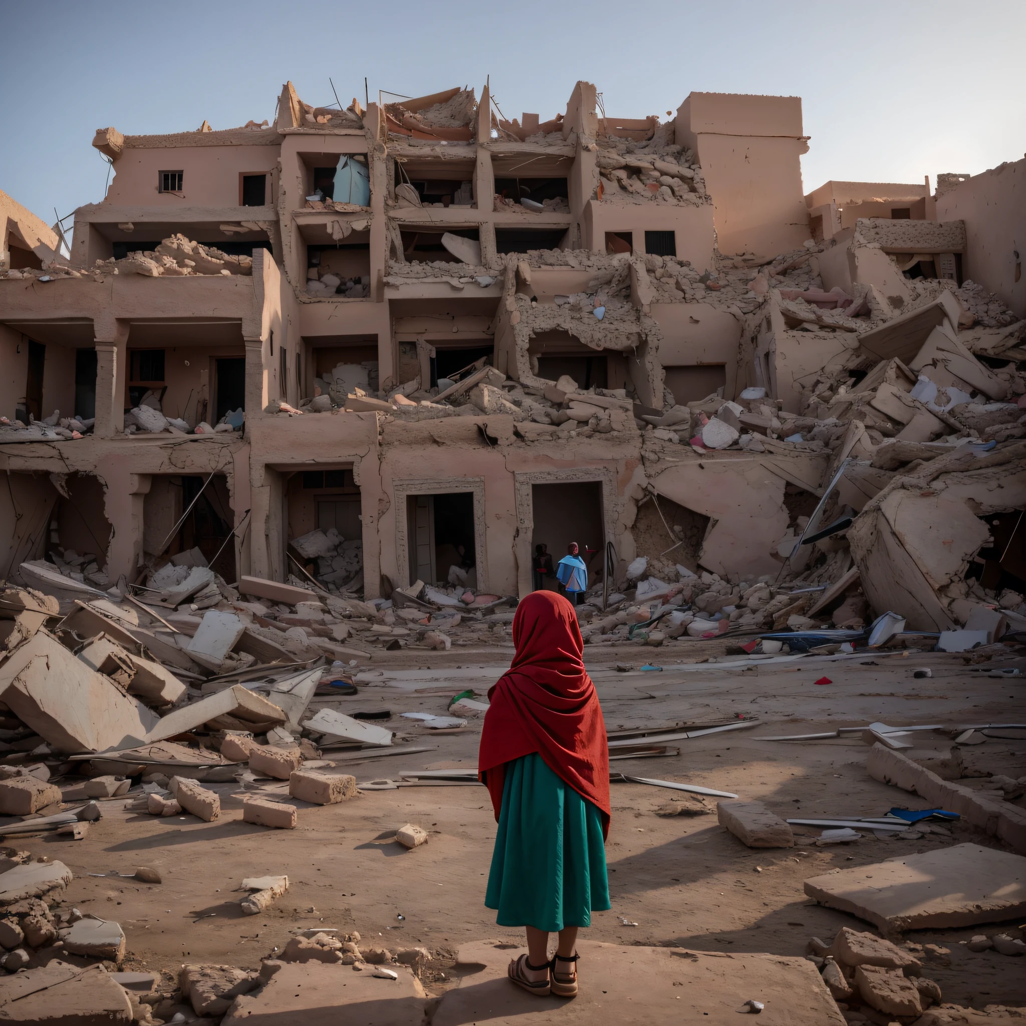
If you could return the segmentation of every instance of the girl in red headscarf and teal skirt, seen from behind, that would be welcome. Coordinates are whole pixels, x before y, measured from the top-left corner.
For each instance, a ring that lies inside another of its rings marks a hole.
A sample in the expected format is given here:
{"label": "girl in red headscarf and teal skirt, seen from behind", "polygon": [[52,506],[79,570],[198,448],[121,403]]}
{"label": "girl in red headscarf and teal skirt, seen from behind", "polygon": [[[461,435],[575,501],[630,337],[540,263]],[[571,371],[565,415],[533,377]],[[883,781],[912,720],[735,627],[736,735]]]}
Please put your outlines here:
{"label": "girl in red headscarf and teal skirt, seen from behind", "polygon": [[578,930],[611,907],[605,722],[565,598],[524,598],[513,642],[513,664],[488,692],[478,756],[499,821],[484,904],[498,910],[500,926],[526,929],[527,954],[510,962],[510,980],[543,997],[574,997]]}

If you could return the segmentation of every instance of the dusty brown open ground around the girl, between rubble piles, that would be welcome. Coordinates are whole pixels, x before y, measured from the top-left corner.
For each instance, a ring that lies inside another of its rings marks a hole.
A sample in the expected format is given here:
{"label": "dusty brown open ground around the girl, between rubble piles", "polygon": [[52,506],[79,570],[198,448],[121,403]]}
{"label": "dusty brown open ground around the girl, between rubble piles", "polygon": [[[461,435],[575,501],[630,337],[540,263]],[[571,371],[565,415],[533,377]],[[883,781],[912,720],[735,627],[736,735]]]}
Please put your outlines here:
{"label": "dusty brown open ground around the girl, between rubble piles", "polygon": [[[760,741],[759,735],[812,733],[877,719],[905,725],[1026,720],[1021,680],[974,672],[960,657],[806,658],[745,670],[717,664],[693,666],[690,671],[679,668],[677,661],[694,661],[696,653],[722,652],[718,644],[627,646],[588,654],[609,729],[738,713],[755,713],[762,720],[752,731],[680,742],[677,757],[617,761],[616,770],[734,791],[765,801],[781,816],[879,816],[893,805],[922,804],[914,795],[868,776],[868,749],[861,741],[853,737],[780,743]],[[464,687],[483,693],[508,665],[511,653],[511,646],[497,645],[488,652],[421,654],[421,666],[430,665],[431,670],[410,669],[410,653],[386,654],[374,662],[386,671],[380,683],[361,687],[353,698],[315,701],[346,712],[389,709],[389,725],[408,739],[407,747],[433,746],[429,752],[357,764],[352,772],[358,781],[403,770],[474,766],[480,720],[471,720],[461,733],[437,735],[398,713],[444,711],[445,697],[417,695],[419,687],[447,686],[449,695]],[[649,658],[663,665],[662,672],[613,669],[618,661],[640,667]],[[933,677],[913,678],[913,670],[925,666],[932,667]],[[816,685],[824,675],[832,683]],[[989,740],[966,748],[966,762],[1023,776],[1026,732],[1019,737],[1022,740]],[[923,738],[923,747],[950,745],[949,739],[933,733]],[[282,948],[291,932],[333,926],[357,930],[365,941],[391,949],[424,945],[436,952],[428,983],[437,993],[447,984],[451,955],[460,943],[517,939],[517,932],[497,926],[495,913],[483,906],[496,824],[481,787],[408,787],[368,791],[333,806],[300,803],[299,828],[276,831],[241,822],[236,785],[208,786],[222,794],[222,818],[214,823],[133,814],[124,811],[123,801],[112,800],[105,803],[103,821],[86,839],[34,839],[22,845],[71,867],[71,903],[121,922],[131,968],[176,971],[183,961],[255,968],[262,957]],[[871,929],[812,904],[802,893],[806,877],[959,840],[997,844],[969,828],[957,828],[953,840],[938,835],[877,840],[870,835],[851,845],[816,847],[808,836],[802,838],[807,839],[805,846],[756,852],[718,827],[715,816],[656,815],[674,793],[614,785],[606,850],[613,909],[594,915],[589,939],[803,954],[812,936],[829,940],[845,924]],[[385,841],[407,821],[431,831],[428,844],[406,852]],[[87,875],[130,873],[140,865],[157,868],[164,882],[147,885]],[[241,915],[236,889],[242,877],[267,873],[287,873],[288,893],[265,914]],[[928,959],[924,970],[941,985],[945,1000],[980,1009],[1026,1004],[1021,964],[992,951],[974,954],[958,944],[977,932],[919,932],[907,939],[950,949],[945,959],[950,964]],[[1011,932],[1020,936],[1017,929]]]}

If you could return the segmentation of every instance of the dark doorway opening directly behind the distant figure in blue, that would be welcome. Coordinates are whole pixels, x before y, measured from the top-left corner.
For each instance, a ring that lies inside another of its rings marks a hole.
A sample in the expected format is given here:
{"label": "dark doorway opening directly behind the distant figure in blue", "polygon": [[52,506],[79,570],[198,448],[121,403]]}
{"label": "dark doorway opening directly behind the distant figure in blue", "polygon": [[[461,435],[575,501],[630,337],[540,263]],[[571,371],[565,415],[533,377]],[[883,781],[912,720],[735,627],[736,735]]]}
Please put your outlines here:
{"label": "dark doorway opening directly behind the distant figure in blue", "polygon": [[[577,542],[579,555],[588,567],[588,583],[593,584],[602,566],[605,531],[602,522],[602,482],[566,481],[559,484],[531,485],[534,529],[531,555],[544,545],[552,556],[553,566],[566,555],[570,542]],[[556,590],[555,578],[546,578],[542,588]]]}

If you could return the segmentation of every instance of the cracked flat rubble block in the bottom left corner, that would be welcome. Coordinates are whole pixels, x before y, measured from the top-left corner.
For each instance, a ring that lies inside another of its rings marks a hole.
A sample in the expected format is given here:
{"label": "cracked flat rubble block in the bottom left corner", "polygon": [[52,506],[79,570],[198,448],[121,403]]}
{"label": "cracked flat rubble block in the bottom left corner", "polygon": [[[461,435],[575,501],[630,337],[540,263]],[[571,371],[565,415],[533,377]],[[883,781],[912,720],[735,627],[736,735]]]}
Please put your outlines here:
{"label": "cracked flat rubble block in the bottom left corner", "polygon": [[[10,968],[9,956],[4,968]],[[0,991],[0,1020],[8,1023],[128,1026],[131,1019],[128,994],[102,965],[54,960],[18,973]]]}

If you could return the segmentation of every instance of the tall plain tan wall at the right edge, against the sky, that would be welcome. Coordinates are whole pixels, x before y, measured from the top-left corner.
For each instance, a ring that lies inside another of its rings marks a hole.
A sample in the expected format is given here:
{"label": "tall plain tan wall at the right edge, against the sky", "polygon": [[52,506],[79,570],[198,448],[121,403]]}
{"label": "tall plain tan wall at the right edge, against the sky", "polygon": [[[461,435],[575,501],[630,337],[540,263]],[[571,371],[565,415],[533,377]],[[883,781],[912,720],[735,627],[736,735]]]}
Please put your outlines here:
{"label": "tall plain tan wall at the right edge, against the sky", "polygon": [[1026,158],[952,185],[937,197],[937,216],[965,222],[962,278],[1026,317]]}

